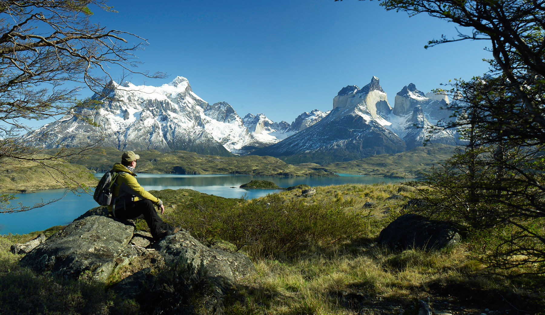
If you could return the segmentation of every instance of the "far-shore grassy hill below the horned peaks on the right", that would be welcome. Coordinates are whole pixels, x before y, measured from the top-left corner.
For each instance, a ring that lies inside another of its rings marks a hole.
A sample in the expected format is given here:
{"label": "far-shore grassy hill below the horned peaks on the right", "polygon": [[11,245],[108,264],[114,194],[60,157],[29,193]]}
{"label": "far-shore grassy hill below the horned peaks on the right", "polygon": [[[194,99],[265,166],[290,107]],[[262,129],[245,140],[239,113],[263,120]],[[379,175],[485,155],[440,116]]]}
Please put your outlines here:
{"label": "far-shore grassy hill below the horned peaks on the right", "polygon": [[298,164],[298,167],[322,169],[325,172],[350,173],[393,178],[419,178],[438,162],[452,156],[456,147],[431,143],[402,153],[373,155],[361,160],[324,164]]}

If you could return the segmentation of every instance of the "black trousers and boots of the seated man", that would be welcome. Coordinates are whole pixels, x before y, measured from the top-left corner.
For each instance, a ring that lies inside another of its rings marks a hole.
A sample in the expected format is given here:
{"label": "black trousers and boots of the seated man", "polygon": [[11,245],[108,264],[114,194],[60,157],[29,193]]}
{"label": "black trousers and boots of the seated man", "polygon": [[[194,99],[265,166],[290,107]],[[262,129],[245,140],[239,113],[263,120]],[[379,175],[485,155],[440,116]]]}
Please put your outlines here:
{"label": "black trousers and boots of the seated man", "polygon": [[171,225],[163,222],[157,211],[155,211],[155,205],[149,199],[126,201],[125,207],[116,205],[114,213],[116,219],[120,220],[132,220],[141,215],[144,215],[154,240],[157,240],[160,234],[165,231],[173,231]]}

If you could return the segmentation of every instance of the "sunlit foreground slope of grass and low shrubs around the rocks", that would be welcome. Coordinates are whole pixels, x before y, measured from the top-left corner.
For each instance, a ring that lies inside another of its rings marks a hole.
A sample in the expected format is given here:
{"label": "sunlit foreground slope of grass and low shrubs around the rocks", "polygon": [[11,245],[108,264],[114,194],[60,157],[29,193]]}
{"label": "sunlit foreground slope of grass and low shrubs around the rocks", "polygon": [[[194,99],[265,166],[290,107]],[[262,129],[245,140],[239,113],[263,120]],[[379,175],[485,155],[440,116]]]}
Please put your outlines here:
{"label": "sunlit foreground slope of grass and low shrubs around the rocks", "polygon": [[[165,221],[182,225],[214,248],[240,249],[255,263],[257,274],[236,283],[226,297],[226,314],[409,315],[419,313],[419,300],[429,302],[436,314],[543,313],[542,276],[524,275],[521,269],[515,270],[518,277],[502,277],[479,262],[480,253],[487,250],[482,246],[487,234],[427,252],[376,246],[381,228],[403,213],[404,201],[387,199],[398,193],[398,184],[315,188],[316,194],[309,197],[292,190],[251,200],[187,189],[153,193],[165,202]],[[406,191],[400,194],[410,197]],[[366,202],[373,202],[373,208],[364,207]],[[136,225],[147,228],[141,219]],[[61,228],[44,232],[50,235]],[[46,309],[55,314],[136,315],[153,313],[144,305],[172,302],[166,290],[164,299],[142,295],[127,301],[109,289],[143,268],[166,274],[168,267],[153,255],[138,256],[117,268],[106,286],[20,268],[22,255],[12,254],[9,247],[37,234],[0,235],[4,313]],[[168,283],[174,283],[171,280]],[[166,286],[169,279],[164,281]]]}

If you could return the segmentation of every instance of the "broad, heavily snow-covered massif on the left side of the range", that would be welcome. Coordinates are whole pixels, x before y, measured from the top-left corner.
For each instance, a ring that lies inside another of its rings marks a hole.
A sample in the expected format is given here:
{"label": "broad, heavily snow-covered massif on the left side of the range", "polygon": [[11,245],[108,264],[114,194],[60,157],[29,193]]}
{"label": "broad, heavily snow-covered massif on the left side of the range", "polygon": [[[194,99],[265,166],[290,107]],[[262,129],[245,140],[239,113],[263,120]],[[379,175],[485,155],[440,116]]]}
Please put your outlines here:
{"label": "broad, heavily snow-covered massif on the left side of the range", "polygon": [[[98,110],[87,108],[78,114],[92,119],[93,126],[70,114],[24,135],[32,141],[47,134],[40,143],[46,148],[81,147],[104,138],[104,146],[119,150],[187,150],[200,154],[230,155],[205,126],[211,118],[204,114],[209,105],[191,90],[189,81],[176,77],[160,87],[122,86],[111,82],[92,99],[102,101]],[[226,123],[221,123],[225,125]]]}

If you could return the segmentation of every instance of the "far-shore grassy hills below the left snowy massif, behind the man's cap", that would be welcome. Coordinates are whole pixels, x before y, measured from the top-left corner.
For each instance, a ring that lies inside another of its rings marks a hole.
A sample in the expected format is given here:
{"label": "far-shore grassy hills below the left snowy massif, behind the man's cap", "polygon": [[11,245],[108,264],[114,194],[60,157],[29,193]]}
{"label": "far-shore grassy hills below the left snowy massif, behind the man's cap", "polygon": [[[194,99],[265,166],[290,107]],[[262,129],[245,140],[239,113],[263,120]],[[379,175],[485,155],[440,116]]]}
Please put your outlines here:
{"label": "far-shore grassy hills below the left snowy massif, behind the man's cap", "polygon": [[[100,152],[102,150],[102,152]],[[115,148],[102,148],[86,159],[75,161],[96,172],[112,169],[121,160],[123,152]],[[336,176],[323,171],[287,164],[271,156],[215,156],[194,152],[157,150],[137,151],[140,160],[137,172],[166,174],[250,174],[272,176]]]}

